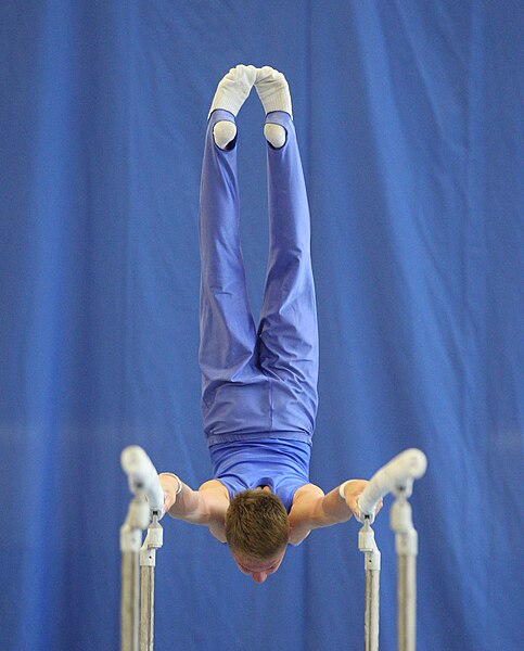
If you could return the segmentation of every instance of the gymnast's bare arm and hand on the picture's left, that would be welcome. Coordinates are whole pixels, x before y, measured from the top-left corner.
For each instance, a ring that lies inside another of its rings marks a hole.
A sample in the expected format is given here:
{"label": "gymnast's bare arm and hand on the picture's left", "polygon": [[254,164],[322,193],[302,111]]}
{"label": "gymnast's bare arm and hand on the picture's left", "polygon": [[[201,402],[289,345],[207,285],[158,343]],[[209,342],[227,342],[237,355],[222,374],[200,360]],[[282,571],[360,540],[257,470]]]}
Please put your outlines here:
{"label": "gymnast's bare arm and hand on the picture's left", "polygon": [[[227,488],[216,480],[202,484],[199,490],[193,490],[178,477],[170,474],[159,474],[158,478],[164,489],[164,512],[171,518],[192,524],[207,526],[210,533],[226,542],[225,520],[229,507]],[[181,485],[182,489],[177,495]]]}

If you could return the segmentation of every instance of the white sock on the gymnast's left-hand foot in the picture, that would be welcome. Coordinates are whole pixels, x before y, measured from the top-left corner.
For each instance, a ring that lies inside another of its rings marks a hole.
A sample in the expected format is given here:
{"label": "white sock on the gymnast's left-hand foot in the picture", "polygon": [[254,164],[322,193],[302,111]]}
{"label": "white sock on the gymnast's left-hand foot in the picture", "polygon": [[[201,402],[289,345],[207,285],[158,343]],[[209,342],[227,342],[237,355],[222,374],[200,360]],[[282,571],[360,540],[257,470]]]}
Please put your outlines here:
{"label": "white sock on the gymnast's left-hand foot in the picture", "polygon": [[[216,108],[225,108],[237,117],[242,104],[250,97],[255,78],[256,68],[253,65],[239,64],[231,68],[218,84],[207,117],[209,118]],[[237,136],[237,126],[232,122],[218,122],[213,129],[213,136],[216,144],[226,149]]]}

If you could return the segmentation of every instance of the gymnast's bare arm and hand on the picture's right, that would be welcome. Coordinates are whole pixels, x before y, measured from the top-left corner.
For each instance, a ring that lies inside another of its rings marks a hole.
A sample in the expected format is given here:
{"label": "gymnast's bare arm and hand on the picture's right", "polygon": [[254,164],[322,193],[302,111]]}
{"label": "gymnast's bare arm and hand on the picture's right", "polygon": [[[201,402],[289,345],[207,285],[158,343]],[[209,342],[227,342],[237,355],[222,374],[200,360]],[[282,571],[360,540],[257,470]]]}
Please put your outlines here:
{"label": "gymnast's bare arm and hand on the picture's right", "polygon": [[[340,486],[328,495],[315,484],[298,488],[290,512],[290,542],[298,545],[315,528],[347,522],[358,515],[357,498],[368,485],[366,480],[350,480],[344,487],[345,500],[338,493]],[[376,509],[376,513],[381,508]]]}

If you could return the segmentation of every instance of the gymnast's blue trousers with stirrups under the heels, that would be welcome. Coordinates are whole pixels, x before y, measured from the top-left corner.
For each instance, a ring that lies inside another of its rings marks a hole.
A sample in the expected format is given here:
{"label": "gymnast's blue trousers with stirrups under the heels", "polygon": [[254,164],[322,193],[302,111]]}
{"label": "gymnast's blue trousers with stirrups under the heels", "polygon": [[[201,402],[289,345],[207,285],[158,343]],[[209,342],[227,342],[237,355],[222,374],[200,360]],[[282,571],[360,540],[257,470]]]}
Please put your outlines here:
{"label": "gymnast's blue trousers with stirrups under the heels", "polygon": [[237,146],[220,150],[206,131],[201,181],[200,349],[202,414],[209,446],[280,438],[310,443],[317,414],[318,328],[306,186],[293,120],[268,144],[269,258],[258,329],[251,314],[240,243]]}

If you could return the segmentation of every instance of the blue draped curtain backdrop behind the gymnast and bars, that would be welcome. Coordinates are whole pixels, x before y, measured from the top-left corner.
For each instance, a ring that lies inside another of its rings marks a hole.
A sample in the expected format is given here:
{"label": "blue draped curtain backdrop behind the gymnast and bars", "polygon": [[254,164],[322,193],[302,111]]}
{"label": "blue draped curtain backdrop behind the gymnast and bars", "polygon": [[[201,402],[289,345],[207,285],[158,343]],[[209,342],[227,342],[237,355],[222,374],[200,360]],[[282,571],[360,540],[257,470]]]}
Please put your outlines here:
{"label": "blue draped curtain backdrop behind the gymnast and bars", "polygon": [[[207,111],[237,63],[292,89],[321,337],[311,477],[410,446],[425,651],[522,648],[523,5],[413,0],[4,0],[0,649],[118,644],[119,452],[196,487],[197,204]],[[239,117],[255,316],[263,110]],[[363,638],[355,522],[256,586],[165,521],[156,648],[335,651]],[[383,650],[395,649],[387,508]]]}

